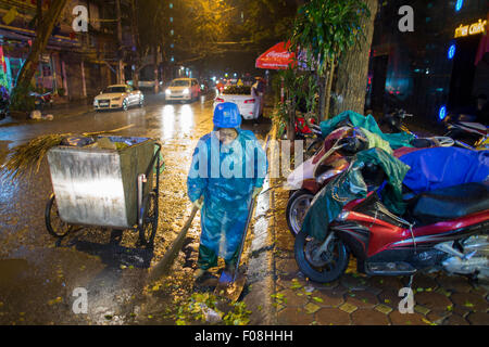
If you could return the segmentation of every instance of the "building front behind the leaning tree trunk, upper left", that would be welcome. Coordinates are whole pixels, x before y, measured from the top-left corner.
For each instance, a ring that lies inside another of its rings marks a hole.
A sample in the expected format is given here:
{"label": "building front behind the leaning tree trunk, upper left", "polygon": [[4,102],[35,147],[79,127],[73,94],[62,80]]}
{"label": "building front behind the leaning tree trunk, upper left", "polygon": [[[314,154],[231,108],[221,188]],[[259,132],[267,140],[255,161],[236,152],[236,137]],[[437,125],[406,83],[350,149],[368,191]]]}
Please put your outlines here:
{"label": "building front behind the leaning tree trunk, upper left", "polygon": [[[42,1],[42,13],[50,1]],[[87,10],[88,30],[77,31],[73,23]],[[36,36],[36,0],[0,1],[0,83],[11,90],[30,44]],[[126,59],[125,47],[117,40],[117,16],[112,3],[101,0],[73,0],[64,9],[45,53],[33,87],[38,91],[53,91],[66,100],[85,99],[117,81],[118,62]],[[125,40],[130,38],[124,38]]]}

